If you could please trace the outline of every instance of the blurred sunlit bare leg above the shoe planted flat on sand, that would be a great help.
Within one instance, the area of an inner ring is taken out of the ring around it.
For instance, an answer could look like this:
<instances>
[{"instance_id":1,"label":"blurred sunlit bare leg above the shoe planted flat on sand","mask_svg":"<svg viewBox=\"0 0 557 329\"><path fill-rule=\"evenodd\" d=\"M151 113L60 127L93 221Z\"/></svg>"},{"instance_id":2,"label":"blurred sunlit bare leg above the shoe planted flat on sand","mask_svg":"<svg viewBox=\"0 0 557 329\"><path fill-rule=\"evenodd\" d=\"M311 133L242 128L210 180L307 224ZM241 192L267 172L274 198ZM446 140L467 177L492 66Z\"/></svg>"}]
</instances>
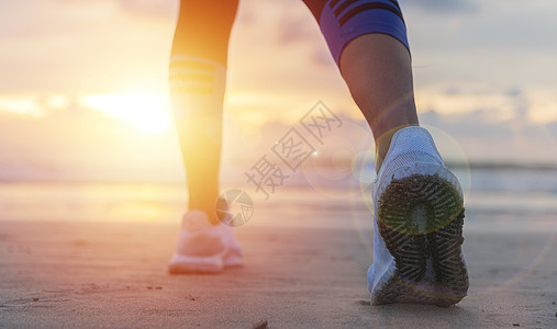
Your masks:
<instances>
[{"instance_id":1,"label":"blurred sunlit bare leg above the shoe planted flat on sand","mask_svg":"<svg viewBox=\"0 0 557 329\"><path fill-rule=\"evenodd\" d=\"M170 93L189 208L219 219L219 169L229 36L237 0L181 0L170 57Z\"/></svg>"}]
</instances>

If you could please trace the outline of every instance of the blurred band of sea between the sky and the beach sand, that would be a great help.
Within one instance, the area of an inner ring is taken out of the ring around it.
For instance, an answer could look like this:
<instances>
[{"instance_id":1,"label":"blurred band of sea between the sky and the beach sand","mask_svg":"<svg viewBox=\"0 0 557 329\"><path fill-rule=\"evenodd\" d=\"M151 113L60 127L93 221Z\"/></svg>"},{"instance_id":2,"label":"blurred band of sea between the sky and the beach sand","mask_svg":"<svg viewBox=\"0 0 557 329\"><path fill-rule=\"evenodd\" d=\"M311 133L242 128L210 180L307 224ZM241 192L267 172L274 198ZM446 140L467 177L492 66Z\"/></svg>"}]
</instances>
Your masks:
<instances>
[{"instance_id":1,"label":"blurred band of sea between the sky and the beach sand","mask_svg":"<svg viewBox=\"0 0 557 329\"><path fill-rule=\"evenodd\" d=\"M455 167L454 172L465 193L468 229L556 228L556 168L490 164ZM331 168L300 171L272 189L249 184L242 172L236 178L224 179L223 191L250 196L254 213L247 225L349 227L354 224L343 218L350 217L358 227L371 226L372 177L355 178ZM179 223L187 200L183 181L11 180L0 182L0 220ZM281 218L275 218L277 211Z\"/></svg>"}]
</instances>

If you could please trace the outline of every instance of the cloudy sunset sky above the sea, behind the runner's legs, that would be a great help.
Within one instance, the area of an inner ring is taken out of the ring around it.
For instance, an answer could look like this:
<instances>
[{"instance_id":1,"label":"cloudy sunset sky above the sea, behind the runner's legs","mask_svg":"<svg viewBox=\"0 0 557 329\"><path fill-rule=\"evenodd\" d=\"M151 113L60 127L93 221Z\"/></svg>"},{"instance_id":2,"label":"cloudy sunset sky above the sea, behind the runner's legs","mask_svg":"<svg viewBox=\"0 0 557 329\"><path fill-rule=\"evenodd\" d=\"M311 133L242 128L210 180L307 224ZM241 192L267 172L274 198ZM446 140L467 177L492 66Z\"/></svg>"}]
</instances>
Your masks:
<instances>
[{"instance_id":1,"label":"cloudy sunset sky above the sea, behind the runner's legs","mask_svg":"<svg viewBox=\"0 0 557 329\"><path fill-rule=\"evenodd\" d=\"M241 2L224 163L249 166L318 101L358 126L338 133L345 145L372 148L303 3ZM556 163L557 2L400 3L419 113L442 152ZM167 83L177 10L176 0L0 1L0 179L183 179Z\"/></svg>"}]
</instances>

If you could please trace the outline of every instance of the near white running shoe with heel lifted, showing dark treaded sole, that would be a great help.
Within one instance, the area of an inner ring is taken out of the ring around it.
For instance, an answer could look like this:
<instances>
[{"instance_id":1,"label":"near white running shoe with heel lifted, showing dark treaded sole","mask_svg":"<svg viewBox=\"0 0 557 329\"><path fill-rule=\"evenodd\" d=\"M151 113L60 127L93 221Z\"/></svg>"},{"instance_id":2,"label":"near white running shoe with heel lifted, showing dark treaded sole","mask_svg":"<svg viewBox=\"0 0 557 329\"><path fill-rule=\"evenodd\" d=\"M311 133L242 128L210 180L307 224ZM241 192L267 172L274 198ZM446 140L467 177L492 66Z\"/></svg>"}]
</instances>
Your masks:
<instances>
[{"instance_id":1,"label":"near white running shoe with heel lifted, showing dark treaded sole","mask_svg":"<svg viewBox=\"0 0 557 329\"><path fill-rule=\"evenodd\" d=\"M463 191L426 129L412 126L394 134L372 197L371 303L460 302L468 291Z\"/></svg>"}]
</instances>

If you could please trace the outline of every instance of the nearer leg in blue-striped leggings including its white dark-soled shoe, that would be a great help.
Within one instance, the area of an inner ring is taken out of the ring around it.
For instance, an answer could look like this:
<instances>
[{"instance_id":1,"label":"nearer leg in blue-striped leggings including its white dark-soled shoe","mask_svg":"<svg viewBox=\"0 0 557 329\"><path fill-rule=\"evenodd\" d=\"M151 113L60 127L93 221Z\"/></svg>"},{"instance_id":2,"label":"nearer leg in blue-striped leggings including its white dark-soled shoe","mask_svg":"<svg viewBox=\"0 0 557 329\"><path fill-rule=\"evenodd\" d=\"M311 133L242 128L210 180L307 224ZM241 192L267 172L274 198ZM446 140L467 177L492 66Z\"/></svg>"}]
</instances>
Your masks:
<instances>
[{"instance_id":1,"label":"nearer leg in blue-striped leggings including its white dark-soled shoe","mask_svg":"<svg viewBox=\"0 0 557 329\"><path fill-rule=\"evenodd\" d=\"M448 306L468 291L464 198L417 125L406 29L396 0L305 0L377 146L374 305ZM402 129L403 128L403 129ZM380 169L380 170L379 170Z\"/></svg>"}]
</instances>

